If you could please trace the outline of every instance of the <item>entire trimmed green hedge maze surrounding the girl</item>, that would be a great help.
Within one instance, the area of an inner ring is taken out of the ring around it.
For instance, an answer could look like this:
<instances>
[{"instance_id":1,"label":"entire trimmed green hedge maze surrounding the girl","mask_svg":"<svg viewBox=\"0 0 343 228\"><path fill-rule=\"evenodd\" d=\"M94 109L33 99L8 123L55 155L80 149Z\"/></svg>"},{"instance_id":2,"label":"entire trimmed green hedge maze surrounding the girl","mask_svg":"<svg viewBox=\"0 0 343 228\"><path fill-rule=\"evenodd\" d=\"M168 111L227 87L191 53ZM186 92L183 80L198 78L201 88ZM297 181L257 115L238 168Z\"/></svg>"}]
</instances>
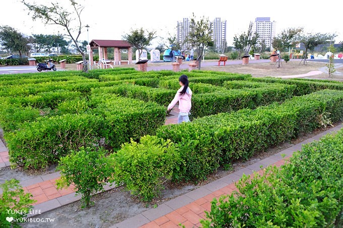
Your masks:
<instances>
[{"instance_id":1,"label":"entire trimmed green hedge maze surrounding the girl","mask_svg":"<svg viewBox=\"0 0 343 228\"><path fill-rule=\"evenodd\" d=\"M192 122L164 125L182 73L194 94ZM342 119L343 84L331 81L133 68L0 76L0 126L13 168L44 169L80 147L104 147L116 171L109 180L144 200L156 196L157 180L165 175L196 182ZM161 172L144 173L149 164ZM133 171L135 166L140 168ZM135 175L124 178L130 172Z\"/></svg>"}]
</instances>

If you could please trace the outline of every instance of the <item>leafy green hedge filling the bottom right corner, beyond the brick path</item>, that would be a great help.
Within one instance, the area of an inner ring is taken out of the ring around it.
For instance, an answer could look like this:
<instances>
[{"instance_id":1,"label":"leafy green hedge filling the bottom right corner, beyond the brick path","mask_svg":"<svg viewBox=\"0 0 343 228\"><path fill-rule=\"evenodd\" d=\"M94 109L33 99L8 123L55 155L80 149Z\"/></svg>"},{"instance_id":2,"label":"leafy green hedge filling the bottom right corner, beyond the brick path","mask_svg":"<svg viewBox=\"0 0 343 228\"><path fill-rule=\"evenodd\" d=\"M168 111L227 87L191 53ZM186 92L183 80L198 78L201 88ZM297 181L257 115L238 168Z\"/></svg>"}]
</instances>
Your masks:
<instances>
[{"instance_id":1,"label":"leafy green hedge filling the bottom right corner, beyond the brick path","mask_svg":"<svg viewBox=\"0 0 343 228\"><path fill-rule=\"evenodd\" d=\"M341 227L343 130L303 146L281 169L243 176L214 199L203 227Z\"/></svg>"}]
</instances>

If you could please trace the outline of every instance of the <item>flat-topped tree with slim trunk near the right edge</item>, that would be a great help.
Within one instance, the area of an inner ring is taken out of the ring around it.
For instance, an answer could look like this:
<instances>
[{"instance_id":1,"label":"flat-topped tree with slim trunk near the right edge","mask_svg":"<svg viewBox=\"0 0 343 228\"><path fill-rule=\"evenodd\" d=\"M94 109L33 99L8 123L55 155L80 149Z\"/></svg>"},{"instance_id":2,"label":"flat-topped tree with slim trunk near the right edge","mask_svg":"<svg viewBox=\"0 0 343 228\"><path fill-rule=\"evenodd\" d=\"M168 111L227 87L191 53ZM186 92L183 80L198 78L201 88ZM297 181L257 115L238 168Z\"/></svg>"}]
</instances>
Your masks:
<instances>
[{"instance_id":1,"label":"flat-topped tree with slim trunk near the right edge","mask_svg":"<svg viewBox=\"0 0 343 228\"><path fill-rule=\"evenodd\" d=\"M299 42L305 46L305 55L307 56L307 50L314 50L319 44L326 43L330 39L330 35L327 33L306 33L299 36ZM304 65L307 64L306 57L304 58Z\"/></svg>"}]
</instances>

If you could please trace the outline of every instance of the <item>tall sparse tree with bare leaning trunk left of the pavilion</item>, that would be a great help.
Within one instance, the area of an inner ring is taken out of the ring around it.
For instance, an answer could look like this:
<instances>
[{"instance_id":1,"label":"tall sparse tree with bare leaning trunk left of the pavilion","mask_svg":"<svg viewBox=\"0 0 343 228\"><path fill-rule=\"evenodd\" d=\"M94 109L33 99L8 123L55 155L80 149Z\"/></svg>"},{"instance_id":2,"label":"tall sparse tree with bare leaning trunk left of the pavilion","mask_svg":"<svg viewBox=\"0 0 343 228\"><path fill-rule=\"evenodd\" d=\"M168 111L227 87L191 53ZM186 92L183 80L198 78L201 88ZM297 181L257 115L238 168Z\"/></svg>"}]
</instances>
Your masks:
<instances>
[{"instance_id":1,"label":"tall sparse tree with bare leaning trunk left of the pavilion","mask_svg":"<svg viewBox=\"0 0 343 228\"><path fill-rule=\"evenodd\" d=\"M84 9L81 5L79 5L76 1L70 0L72 12L65 10L61 7L60 3L50 3L48 6L43 6L41 4L29 4L25 0L21 0L21 2L28 8L28 10L32 13L32 20L40 19L42 21L46 21L50 24L60 25L66 31L68 36L73 40L74 44L78 48L78 51L82 55L83 60L83 72L88 72L87 61L85 57L85 52L82 51L78 46L78 39L81 35L81 29L83 28L81 22L81 13ZM77 25L73 27L74 20L77 21ZM76 35L74 33L76 30Z\"/></svg>"}]
</instances>

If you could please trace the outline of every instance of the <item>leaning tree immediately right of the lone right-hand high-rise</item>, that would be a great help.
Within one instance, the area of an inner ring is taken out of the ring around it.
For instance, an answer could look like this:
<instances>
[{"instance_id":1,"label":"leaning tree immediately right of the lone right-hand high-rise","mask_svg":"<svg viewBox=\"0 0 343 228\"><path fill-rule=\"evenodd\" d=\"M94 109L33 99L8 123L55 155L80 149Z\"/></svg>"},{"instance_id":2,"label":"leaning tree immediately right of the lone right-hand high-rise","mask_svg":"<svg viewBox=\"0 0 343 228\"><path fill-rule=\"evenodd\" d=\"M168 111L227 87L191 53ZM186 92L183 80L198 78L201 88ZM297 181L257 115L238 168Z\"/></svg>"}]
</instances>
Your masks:
<instances>
[{"instance_id":1,"label":"leaning tree immediately right of the lone right-hand high-rise","mask_svg":"<svg viewBox=\"0 0 343 228\"><path fill-rule=\"evenodd\" d=\"M280 51L295 47L298 43L298 36L303 32L303 28L284 29L273 39L272 46Z\"/></svg>"}]
</instances>

